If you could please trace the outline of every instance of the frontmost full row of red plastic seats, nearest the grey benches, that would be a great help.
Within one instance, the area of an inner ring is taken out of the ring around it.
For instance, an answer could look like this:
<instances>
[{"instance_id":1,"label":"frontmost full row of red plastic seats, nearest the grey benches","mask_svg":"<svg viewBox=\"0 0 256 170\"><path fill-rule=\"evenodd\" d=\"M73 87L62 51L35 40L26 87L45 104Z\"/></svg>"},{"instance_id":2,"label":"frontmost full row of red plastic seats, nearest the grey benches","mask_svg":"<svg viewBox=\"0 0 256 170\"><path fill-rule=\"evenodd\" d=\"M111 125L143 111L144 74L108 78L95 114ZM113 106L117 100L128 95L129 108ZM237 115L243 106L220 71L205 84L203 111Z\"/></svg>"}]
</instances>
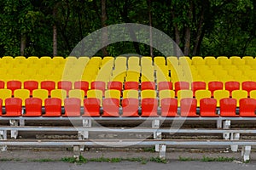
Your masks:
<instances>
[{"instance_id":1,"label":"frontmost full row of red plastic seats, nearest the grey benches","mask_svg":"<svg viewBox=\"0 0 256 170\"><path fill-rule=\"evenodd\" d=\"M26 99L25 112L22 112L22 101L19 98L5 99L5 111L2 111L0 99L0 116L101 116L99 99L84 99L84 111L81 110L81 99L68 98L64 100L65 113L61 113L61 99L51 98L44 100L44 114L42 114L42 99ZM204 98L200 100L200 113L196 111L196 99L181 99L180 111L177 112L177 99L161 99L160 115L158 115L157 99L143 99L141 116L256 116L256 99L240 99L239 114L236 112L236 99L221 99L219 115L217 114L217 100ZM128 98L122 100L121 116L139 116L138 99ZM120 116L118 99L103 99L102 116Z\"/></svg>"}]
</instances>

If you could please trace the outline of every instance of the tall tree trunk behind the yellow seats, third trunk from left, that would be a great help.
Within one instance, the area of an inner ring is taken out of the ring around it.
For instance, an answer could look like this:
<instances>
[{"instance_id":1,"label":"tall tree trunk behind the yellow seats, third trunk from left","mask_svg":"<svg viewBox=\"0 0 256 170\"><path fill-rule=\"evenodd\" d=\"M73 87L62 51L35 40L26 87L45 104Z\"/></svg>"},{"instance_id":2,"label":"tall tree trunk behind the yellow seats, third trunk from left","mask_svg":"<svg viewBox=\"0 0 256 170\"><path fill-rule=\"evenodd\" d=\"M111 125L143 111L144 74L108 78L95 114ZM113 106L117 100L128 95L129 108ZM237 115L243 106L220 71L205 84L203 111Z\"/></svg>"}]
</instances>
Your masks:
<instances>
[{"instance_id":1,"label":"tall tree trunk behind the yellow seats, third trunk from left","mask_svg":"<svg viewBox=\"0 0 256 170\"><path fill-rule=\"evenodd\" d=\"M107 6L107 0L102 0L102 27L106 27L106 21L107 21L107 11L106 11L106 6ZM103 29L102 31L102 45L104 46L102 48L102 54L104 56L108 55L107 51L107 46L105 46L108 43L108 30L107 28Z\"/></svg>"}]
</instances>

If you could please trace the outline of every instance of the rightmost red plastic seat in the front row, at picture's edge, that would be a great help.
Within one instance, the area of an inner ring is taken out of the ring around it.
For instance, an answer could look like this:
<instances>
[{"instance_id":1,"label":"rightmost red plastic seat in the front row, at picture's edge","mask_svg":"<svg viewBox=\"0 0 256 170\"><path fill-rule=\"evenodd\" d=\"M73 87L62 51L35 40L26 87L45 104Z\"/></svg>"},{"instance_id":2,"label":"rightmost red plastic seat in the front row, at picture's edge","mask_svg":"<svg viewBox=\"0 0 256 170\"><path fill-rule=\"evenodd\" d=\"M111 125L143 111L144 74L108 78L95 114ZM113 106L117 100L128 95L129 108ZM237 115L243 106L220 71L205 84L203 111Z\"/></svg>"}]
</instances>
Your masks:
<instances>
[{"instance_id":1,"label":"rightmost red plastic seat in the front row, at picture's edge","mask_svg":"<svg viewBox=\"0 0 256 170\"><path fill-rule=\"evenodd\" d=\"M256 99L244 98L239 100L239 116L256 116Z\"/></svg>"}]
</instances>

